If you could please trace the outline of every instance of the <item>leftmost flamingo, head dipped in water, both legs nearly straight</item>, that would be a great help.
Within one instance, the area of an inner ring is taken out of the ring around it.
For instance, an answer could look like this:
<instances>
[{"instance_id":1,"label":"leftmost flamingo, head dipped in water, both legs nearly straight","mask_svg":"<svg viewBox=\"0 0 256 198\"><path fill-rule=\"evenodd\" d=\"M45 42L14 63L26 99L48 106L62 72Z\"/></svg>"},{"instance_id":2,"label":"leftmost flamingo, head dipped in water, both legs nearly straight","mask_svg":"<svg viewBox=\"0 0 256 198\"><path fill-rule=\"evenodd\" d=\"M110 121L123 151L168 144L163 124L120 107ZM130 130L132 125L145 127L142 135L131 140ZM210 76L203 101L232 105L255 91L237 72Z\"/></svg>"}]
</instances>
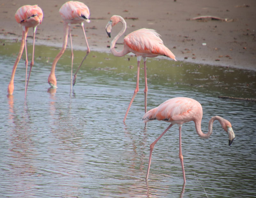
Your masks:
<instances>
[{"instance_id":1,"label":"leftmost flamingo, head dipped in water, both legs nearly straight","mask_svg":"<svg viewBox=\"0 0 256 198\"><path fill-rule=\"evenodd\" d=\"M12 95L13 90L14 90L14 75L15 71L17 68L17 65L20 61L21 55L24 50L25 46L25 52L26 52L26 60L25 60L25 65L26 65L26 81L25 81L25 98L27 95L27 89L28 89L28 83L27 83L27 70L28 70L28 55L27 55L27 44L26 44L26 39L28 35L28 28L33 28L33 52L32 52L32 60L30 63L30 70L29 70L29 75L28 75L28 82L29 82L29 77L30 77L30 72L31 69L34 65L34 49L35 49L35 35L36 35L36 27L37 25L43 20L43 11L38 5L23 5L21 6L17 12L14 15L16 21L20 23L22 27L22 38L21 38L21 44L20 44L20 51L18 54L18 57L13 65L12 68L12 75L11 75L11 80L8 85L8 95Z\"/></svg>"}]
</instances>

